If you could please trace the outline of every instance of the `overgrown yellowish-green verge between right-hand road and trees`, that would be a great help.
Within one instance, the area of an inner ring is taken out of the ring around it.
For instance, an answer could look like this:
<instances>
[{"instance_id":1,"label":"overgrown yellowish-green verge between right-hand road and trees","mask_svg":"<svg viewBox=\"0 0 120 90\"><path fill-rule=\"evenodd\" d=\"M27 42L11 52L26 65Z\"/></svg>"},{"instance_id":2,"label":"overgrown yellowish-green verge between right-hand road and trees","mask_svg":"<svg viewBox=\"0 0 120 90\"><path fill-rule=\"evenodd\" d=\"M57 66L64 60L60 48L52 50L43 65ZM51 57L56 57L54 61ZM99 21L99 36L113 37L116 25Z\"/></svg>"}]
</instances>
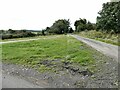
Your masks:
<instances>
[{"instance_id":1,"label":"overgrown yellowish-green verge between right-hand road and trees","mask_svg":"<svg viewBox=\"0 0 120 90\"><path fill-rule=\"evenodd\" d=\"M120 46L120 42L118 41L117 34L110 34L110 33L91 30L91 31L80 32L79 35L83 37L99 40L105 43Z\"/></svg>"}]
</instances>

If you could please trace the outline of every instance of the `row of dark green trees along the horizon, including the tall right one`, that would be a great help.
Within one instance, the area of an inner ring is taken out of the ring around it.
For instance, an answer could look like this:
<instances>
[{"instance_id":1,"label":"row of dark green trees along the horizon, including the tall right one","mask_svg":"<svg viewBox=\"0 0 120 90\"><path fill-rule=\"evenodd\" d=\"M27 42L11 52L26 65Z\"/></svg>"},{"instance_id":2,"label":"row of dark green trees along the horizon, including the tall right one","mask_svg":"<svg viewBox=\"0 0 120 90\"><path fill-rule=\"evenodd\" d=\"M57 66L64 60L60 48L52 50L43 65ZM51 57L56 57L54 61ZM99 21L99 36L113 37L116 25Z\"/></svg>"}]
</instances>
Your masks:
<instances>
[{"instance_id":1,"label":"row of dark green trees along the horizon, including the tall right one","mask_svg":"<svg viewBox=\"0 0 120 90\"><path fill-rule=\"evenodd\" d=\"M97 30L104 32L120 33L120 2L107 2L103 4L102 10L98 12L96 23L91 23L85 18L74 22L75 30L70 27L70 20L59 19L51 27L44 31L54 34L81 32L85 30Z\"/></svg>"}]
</instances>

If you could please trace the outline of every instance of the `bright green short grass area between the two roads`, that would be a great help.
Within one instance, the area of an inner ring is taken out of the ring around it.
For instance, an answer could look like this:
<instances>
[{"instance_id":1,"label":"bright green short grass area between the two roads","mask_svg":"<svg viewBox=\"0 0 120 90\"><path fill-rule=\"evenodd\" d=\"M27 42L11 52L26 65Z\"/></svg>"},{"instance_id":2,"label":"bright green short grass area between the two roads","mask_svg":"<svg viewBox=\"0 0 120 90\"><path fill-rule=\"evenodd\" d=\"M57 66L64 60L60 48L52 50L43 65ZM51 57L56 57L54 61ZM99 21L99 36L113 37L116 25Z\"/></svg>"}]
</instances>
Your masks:
<instances>
[{"instance_id":1,"label":"bright green short grass area between the two roads","mask_svg":"<svg viewBox=\"0 0 120 90\"><path fill-rule=\"evenodd\" d=\"M69 35L2 45L3 62L49 70L39 65L44 60L69 61L83 66L94 63L91 49Z\"/></svg>"}]
</instances>

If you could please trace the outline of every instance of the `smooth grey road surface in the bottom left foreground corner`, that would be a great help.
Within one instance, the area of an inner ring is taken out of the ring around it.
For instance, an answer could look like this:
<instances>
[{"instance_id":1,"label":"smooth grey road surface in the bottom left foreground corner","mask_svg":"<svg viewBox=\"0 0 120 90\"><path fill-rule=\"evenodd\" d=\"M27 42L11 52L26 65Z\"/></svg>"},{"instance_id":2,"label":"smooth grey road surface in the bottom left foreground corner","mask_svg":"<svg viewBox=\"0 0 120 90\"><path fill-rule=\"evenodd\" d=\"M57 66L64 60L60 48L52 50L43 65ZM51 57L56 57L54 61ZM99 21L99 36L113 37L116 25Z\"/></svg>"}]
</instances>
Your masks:
<instances>
[{"instance_id":1,"label":"smooth grey road surface in the bottom left foreground corner","mask_svg":"<svg viewBox=\"0 0 120 90\"><path fill-rule=\"evenodd\" d=\"M2 73L2 88L42 88L22 79L18 76L12 76Z\"/></svg>"}]
</instances>

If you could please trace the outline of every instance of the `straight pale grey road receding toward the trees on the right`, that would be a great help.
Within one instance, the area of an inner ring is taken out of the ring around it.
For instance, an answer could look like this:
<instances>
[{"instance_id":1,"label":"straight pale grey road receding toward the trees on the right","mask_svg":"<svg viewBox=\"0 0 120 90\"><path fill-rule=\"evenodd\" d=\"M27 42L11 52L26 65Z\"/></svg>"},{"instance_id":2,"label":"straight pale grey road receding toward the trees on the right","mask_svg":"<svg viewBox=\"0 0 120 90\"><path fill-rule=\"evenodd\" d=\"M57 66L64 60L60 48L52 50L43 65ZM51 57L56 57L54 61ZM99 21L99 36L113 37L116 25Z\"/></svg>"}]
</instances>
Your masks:
<instances>
[{"instance_id":1,"label":"straight pale grey road receding toward the trees on the right","mask_svg":"<svg viewBox=\"0 0 120 90\"><path fill-rule=\"evenodd\" d=\"M70 35L87 45L93 47L94 49L100 51L101 53L113 58L114 60L118 61L118 52L120 51L118 46L107 44L101 41L89 39L89 38L84 38L78 35Z\"/></svg>"}]
</instances>

